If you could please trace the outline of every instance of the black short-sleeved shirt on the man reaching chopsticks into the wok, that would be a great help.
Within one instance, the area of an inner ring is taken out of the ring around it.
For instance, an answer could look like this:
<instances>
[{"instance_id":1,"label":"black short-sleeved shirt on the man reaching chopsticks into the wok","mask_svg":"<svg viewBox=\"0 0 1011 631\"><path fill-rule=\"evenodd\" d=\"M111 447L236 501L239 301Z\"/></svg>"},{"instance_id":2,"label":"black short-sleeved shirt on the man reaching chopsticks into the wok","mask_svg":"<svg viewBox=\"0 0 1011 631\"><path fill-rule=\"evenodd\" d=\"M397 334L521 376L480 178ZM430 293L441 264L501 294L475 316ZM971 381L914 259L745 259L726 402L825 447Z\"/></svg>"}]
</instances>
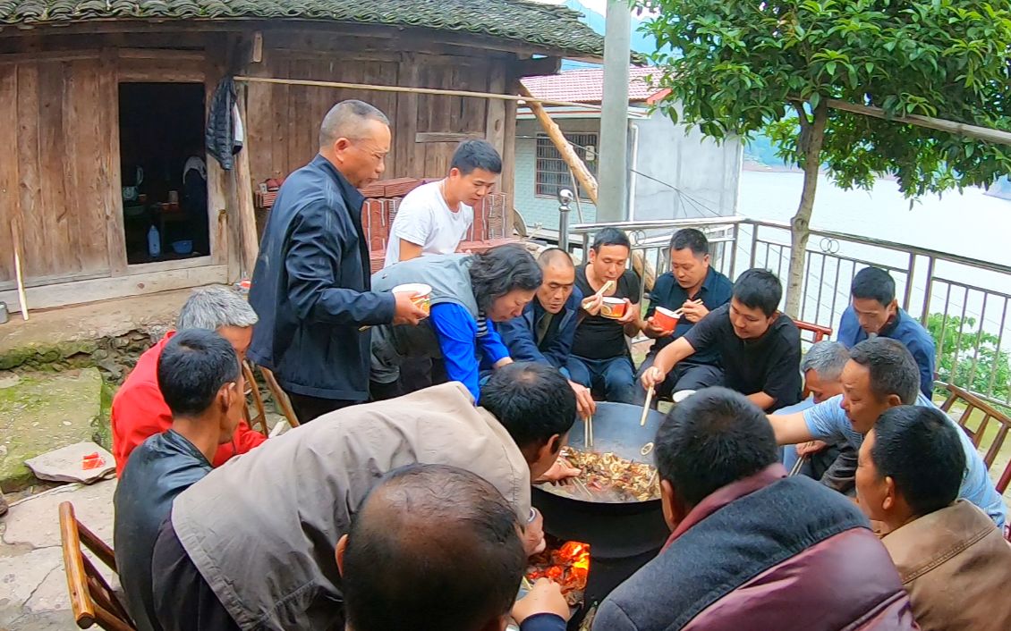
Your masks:
<instances>
[{"instance_id":1,"label":"black short-sleeved shirt on the man reaching chopsticks into the wok","mask_svg":"<svg viewBox=\"0 0 1011 631\"><path fill-rule=\"evenodd\" d=\"M719 354L727 388L743 395L765 393L773 399L770 410L801 400L801 333L787 315L779 314L761 337L741 339L727 304L700 320L684 339L696 352Z\"/></svg>"}]
</instances>

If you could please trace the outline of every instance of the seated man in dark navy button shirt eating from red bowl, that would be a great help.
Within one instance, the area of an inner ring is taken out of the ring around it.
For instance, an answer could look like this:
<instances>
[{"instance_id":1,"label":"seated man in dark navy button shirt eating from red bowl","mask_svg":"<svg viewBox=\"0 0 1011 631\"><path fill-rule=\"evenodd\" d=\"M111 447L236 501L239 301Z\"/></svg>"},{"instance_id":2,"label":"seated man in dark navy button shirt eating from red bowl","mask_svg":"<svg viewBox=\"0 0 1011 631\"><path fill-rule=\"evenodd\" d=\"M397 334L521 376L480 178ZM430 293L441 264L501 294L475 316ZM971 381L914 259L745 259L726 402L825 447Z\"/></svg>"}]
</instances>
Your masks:
<instances>
[{"instance_id":1,"label":"seated man in dark navy button shirt eating from red bowl","mask_svg":"<svg viewBox=\"0 0 1011 631\"><path fill-rule=\"evenodd\" d=\"M646 327L643 333L652 337L649 354L639 366L636 379L645 373L667 344L679 339L692 330L696 322L710 311L730 302L734 284L710 266L709 240L701 230L682 228L670 237L670 272L660 275L649 295L649 309L646 310ZM656 323L656 308L681 311L676 326L670 329ZM667 375L662 384L656 386L656 394L669 397L678 390L701 390L723 384L720 367L720 353L717 348L707 348L679 361ZM641 391L643 397L646 392Z\"/></svg>"}]
</instances>

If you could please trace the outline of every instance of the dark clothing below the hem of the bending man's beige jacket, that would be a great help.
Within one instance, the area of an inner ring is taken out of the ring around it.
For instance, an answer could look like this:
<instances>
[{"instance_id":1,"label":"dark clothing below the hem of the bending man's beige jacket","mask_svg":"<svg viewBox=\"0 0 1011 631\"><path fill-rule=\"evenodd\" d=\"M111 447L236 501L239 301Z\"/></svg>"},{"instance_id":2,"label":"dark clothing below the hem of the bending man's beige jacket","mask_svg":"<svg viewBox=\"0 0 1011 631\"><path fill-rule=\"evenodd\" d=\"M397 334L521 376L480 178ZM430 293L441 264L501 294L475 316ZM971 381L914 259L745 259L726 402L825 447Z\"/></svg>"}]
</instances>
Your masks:
<instances>
[{"instance_id":1,"label":"dark clothing below the hem of the bending man's beige jacket","mask_svg":"<svg viewBox=\"0 0 1011 631\"><path fill-rule=\"evenodd\" d=\"M164 631L239 631L179 541L171 513L158 531L151 574L155 614Z\"/></svg>"}]
</instances>

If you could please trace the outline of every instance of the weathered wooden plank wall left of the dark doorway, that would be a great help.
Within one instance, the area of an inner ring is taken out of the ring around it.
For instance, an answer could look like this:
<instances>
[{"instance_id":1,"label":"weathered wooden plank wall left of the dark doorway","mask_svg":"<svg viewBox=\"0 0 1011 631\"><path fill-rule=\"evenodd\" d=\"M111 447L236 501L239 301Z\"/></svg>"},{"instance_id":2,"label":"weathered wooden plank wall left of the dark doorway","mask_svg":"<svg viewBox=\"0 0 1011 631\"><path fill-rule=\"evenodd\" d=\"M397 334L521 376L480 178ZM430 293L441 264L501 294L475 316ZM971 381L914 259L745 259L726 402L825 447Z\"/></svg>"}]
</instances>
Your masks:
<instances>
[{"instance_id":1,"label":"weathered wooden plank wall left of the dark doorway","mask_svg":"<svg viewBox=\"0 0 1011 631\"><path fill-rule=\"evenodd\" d=\"M14 279L12 222L29 284L110 270L110 182L99 147L114 137L114 83L96 52L70 61L0 61L0 288ZM110 89L113 91L109 93Z\"/></svg>"}]
</instances>

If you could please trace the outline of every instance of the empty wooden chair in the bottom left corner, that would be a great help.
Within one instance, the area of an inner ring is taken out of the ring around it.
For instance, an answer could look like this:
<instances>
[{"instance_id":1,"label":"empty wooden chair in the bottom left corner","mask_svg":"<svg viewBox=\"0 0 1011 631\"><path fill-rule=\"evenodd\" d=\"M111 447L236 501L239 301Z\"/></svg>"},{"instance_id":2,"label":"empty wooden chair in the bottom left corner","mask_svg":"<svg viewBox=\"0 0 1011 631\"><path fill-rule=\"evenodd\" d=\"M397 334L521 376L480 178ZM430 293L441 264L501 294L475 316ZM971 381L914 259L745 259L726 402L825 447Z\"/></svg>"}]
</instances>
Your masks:
<instances>
[{"instance_id":1,"label":"empty wooden chair in the bottom left corner","mask_svg":"<svg viewBox=\"0 0 1011 631\"><path fill-rule=\"evenodd\" d=\"M136 631L119 597L91 559L84 555L81 544L116 571L112 548L77 520L70 502L60 505L60 537L70 605L77 626L87 629L97 624L106 631Z\"/></svg>"}]
</instances>

